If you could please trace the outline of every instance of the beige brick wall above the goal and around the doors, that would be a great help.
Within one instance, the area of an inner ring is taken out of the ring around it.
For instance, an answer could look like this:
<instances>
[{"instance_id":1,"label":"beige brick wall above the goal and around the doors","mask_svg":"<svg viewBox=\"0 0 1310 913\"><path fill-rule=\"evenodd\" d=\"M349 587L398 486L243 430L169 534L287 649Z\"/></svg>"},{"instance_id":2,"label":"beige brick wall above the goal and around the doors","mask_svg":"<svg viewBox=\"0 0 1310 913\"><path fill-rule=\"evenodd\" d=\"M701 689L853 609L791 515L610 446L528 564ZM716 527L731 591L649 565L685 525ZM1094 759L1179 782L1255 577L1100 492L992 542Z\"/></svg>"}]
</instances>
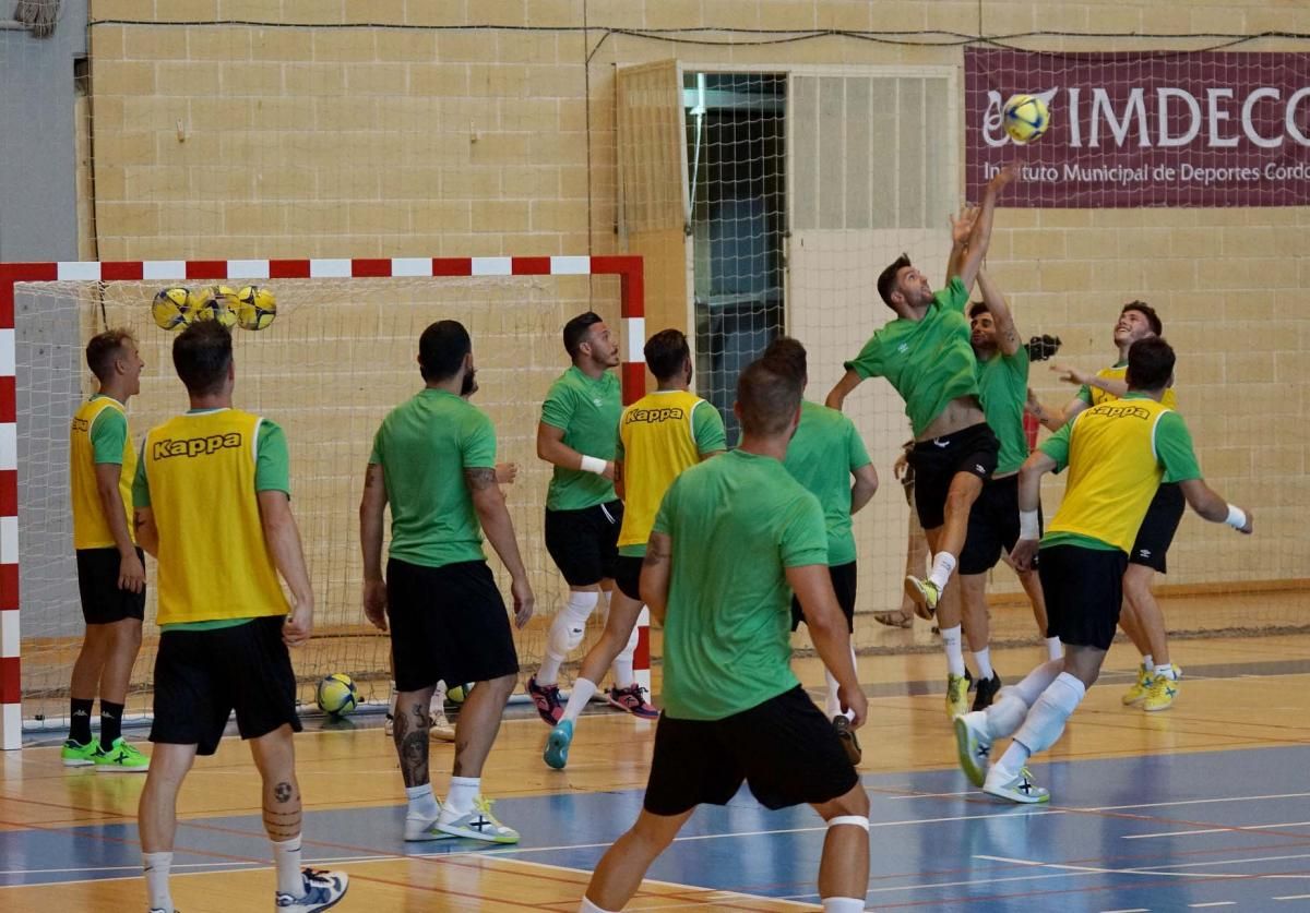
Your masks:
<instances>
[{"instance_id":1,"label":"beige brick wall above the goal and around the doors","mask_svg":"<svg viewBox=\"0 0 1310 913\"><path fill-rule=\"evenodd\" d=\"M159 25L113 22L140 18L143 7ZM820 64L960 68L962 50L832 35L766 46L749 43L758 35L739 35L739 43L707 47L607 29L1310 31L1310 8L1272 9L1255 0L169 0L151 7L92 4L101 22L90 35L94 216L103 259L607 254L650 245L648 285L673 302L655 310L660 323L679 320L685 273L677 237L617 230L617 67L677 59L692 69L772 72ZM270 25L168 25L234 18ZM362 21L443 27L313 27ZM444 27L470 21L533 29ZM575 30L583 24L588 31ZM730 42L731 34L697 38ZM1163 44L1024 42L1052 50ZM1272 41L1248 47L1303 50ZM1307 222L1306 209L1002 211L997 220L992 269L1026 335L1065 340L1061 360L1085 369L1110 361L1110 326L1127 300L1145 297L1165 318L1180 353L1182 408L1203 467L1222 493L1255 508L1262 531L1259 544L1238 543L1188 518L1170 556L1171 582L1303 577L1310 566L1301 521L1310 506ZM853 262L861 255L850 254ZM865 320L833 327L834 341L824 344L832 351L825 348L821 361L840 361L883 318L871 305ZM832 379L815 377L814 385ZM1034 369L1034 386L1053 403L1072 392L1044 366ZM899 436L875 437L870 446L889 489Z\"/></svg>"}]
</instances>

